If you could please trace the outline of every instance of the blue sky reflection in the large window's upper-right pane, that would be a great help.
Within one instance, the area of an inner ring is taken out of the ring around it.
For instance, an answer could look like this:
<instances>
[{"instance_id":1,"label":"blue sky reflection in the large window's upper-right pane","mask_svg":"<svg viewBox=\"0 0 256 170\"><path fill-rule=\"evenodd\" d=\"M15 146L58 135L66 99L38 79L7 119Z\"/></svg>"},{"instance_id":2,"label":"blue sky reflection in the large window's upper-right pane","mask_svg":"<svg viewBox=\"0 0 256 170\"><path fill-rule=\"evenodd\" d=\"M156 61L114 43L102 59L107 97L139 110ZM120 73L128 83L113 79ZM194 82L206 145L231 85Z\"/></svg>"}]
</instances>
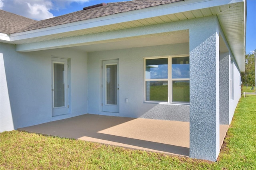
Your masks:
<instances>
[{"instance_id":1,"label":"blue sky reflection in the large window's upper-right pane","mask_svg":"<svg viewBox=\"0 0 256 170\"><path fill-rule=\"evenodd\" d=\"M172 64L172 78L189 78L189 64Z\"/></svg>"}]
</instances>

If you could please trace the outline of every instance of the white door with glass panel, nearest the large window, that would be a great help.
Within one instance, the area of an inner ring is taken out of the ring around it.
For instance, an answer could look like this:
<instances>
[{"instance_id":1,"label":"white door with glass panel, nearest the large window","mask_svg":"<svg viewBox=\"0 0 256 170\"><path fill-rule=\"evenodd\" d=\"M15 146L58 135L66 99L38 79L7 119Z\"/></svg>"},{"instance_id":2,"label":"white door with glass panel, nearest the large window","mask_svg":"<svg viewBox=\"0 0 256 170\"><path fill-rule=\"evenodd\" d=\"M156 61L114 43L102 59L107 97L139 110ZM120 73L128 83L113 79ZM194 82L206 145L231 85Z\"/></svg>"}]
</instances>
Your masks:
<instances>
[{"instance_id":1,"label":"white door with glass panel, nearest the large window","mask_svg":"<svg viewBox=\"0 0 256 170\"><path fill-rule=\"evenodd\" d=\"M119 61L103 61L102 111L119 113Z\"/></svg>"}]
</instances>

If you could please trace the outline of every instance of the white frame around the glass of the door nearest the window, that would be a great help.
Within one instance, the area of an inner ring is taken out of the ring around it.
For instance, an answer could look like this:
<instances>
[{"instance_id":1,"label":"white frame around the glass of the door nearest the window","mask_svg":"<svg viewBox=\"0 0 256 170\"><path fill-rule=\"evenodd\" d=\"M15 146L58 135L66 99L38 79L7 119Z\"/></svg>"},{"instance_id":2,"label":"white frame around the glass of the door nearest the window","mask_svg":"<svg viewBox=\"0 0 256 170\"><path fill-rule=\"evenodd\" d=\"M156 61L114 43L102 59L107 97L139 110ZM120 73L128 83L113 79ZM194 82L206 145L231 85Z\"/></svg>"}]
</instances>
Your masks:
<instances>
[{"instance_id":1,"label":"white frame around the glass of the door nearest the window","mask_svg":"<svg viewBox=\"0 0 256 170\"><path fill-rule=\"evenodd\" d=\"M116 105L106 103L106 66L107 65L117 65L116 70ZM103 112L113 112L119 113L119 59L103 60L102 61L102 111Z\"/></svg>"}]
</instances>

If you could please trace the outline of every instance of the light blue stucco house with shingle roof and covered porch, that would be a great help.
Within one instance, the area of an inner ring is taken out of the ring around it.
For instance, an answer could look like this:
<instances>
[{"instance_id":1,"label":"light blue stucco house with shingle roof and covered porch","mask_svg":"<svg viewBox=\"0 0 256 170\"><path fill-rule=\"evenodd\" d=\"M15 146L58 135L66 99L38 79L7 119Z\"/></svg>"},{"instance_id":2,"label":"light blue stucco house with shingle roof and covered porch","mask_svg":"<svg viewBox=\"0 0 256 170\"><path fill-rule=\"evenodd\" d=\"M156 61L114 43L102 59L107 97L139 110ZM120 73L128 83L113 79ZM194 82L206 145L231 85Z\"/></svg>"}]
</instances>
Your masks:
<instances>
[{"instance_id":1,"label":"light blue stucco house with shingle roof and covered porch","mask_svg":"<svg viewBox=\"0 0 256 170\"><path fill-rule=\"evenodd\" d=\"M86 113L190 122L215 161L244 71L246 0L134 0L34 21L1 10L0 131Z\"/></svg>"}]
</instances>

